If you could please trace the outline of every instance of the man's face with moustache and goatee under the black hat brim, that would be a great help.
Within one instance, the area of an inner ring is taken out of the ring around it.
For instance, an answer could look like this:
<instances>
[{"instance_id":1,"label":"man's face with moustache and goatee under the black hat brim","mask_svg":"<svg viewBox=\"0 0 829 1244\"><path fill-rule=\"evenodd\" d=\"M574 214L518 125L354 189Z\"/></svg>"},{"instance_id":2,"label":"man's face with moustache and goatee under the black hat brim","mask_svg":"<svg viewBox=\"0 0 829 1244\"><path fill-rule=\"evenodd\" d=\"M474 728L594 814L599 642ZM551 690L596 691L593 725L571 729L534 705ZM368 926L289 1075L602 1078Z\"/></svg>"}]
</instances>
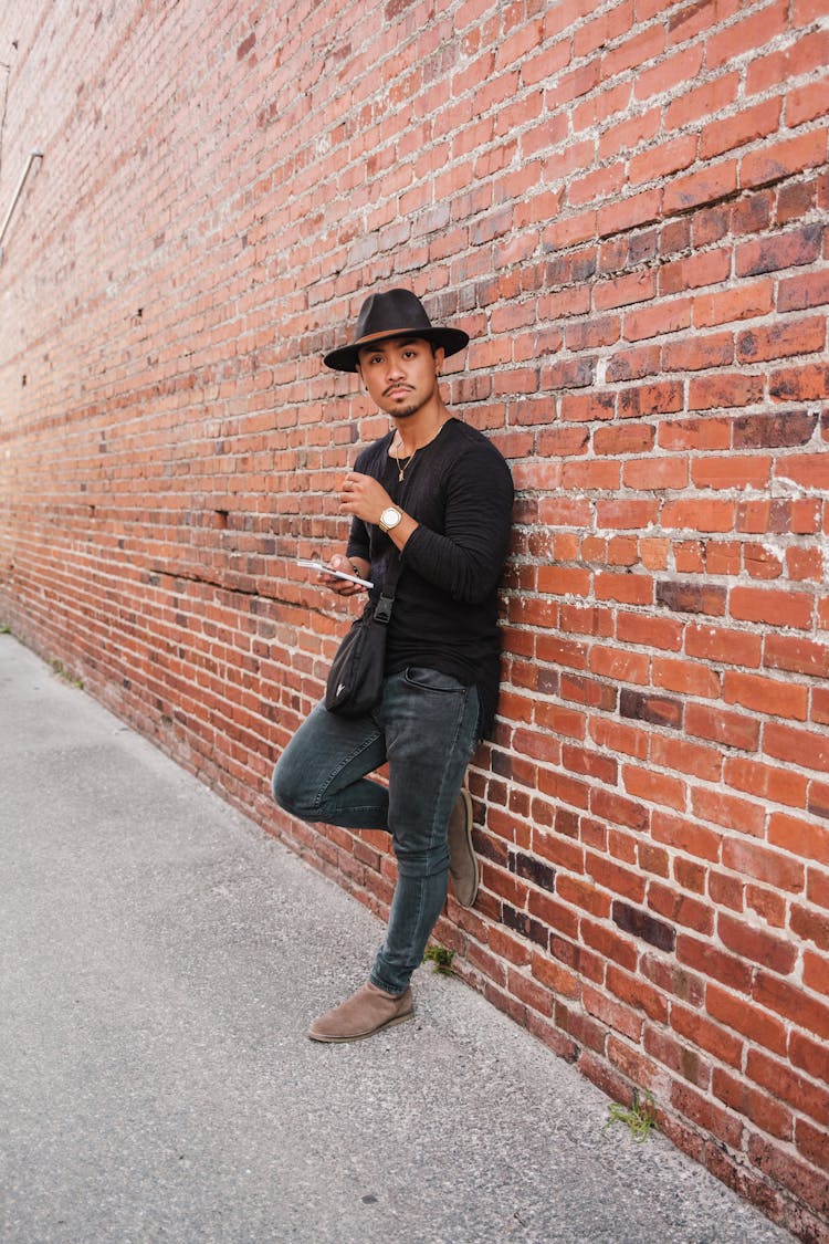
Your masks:
<instances>
[{"instance_id":1,"label":"man's face with moustache and goatee under the black hat brim","mask_svg":"<svg viewBox=\"0 0 829 1244\"><path fill-rule=\"evenodd\" d=\"M423 337L392 337L359 352L358 371L380 411L405 419L435 396L444 350L435 353Z\"/></svg>"}]
</instances>

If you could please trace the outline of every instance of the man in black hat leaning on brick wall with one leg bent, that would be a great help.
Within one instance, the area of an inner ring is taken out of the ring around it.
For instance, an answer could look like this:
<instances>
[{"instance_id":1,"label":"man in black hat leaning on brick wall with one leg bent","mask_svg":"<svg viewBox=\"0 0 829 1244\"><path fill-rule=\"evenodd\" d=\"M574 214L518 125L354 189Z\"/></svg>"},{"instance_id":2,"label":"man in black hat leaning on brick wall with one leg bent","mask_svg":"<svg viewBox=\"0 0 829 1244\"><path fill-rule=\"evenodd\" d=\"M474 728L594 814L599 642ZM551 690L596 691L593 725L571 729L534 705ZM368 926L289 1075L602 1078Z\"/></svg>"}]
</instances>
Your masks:
<instances>
[{"instance_id":1,"label":"man in black hat leaning on brick wall with one leg bent","mask_svg":"<svg viewBox=\"0 0 829 1244\"><path fill-rule=\"evenodd\" d=\"M341 491L352 516L331 570L374 583L400 576L388 627L382 700L365 717L317 705L273 773L277 804L307 821L387 830L398 861L389 926L368 982L314 1020L314 1041L353 1041L413 1015L409 980L446 898L479 883L472 850L470 755L497 700L497 587L507 556L512 479L498 450L455 419L439 389L444 360L469 336L434 327L409 290L362 306L352 345L326 366L357 372L392 430L364 449ZM341 596L362 591L327 575ZM388 790L367 775L388 761Z\"/></svg>"}]
</instances>

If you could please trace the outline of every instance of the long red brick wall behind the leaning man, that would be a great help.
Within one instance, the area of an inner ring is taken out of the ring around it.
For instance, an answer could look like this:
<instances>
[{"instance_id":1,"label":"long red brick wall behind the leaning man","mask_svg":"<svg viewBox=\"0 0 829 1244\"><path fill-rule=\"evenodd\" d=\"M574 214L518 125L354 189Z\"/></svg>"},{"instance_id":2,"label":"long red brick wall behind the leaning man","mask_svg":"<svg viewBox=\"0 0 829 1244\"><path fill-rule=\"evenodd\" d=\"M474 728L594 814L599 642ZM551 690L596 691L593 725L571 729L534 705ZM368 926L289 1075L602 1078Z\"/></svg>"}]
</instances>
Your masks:
<instances>
[{"instance_id":1,"label":"long red brick wall behind the leaning man","mask_svg":"<svg viewBox=\"0 0 829 1244\"><path fill-rule=\"evenodd\" d=\"M348 613L293 560L384 430L319 356L378 284L465 325L446 396L520 493L483 892L440 935L820 1238L825 6L6 11L0 210L45 158L0 267L0 621L384 911L379 836L267 791Z\"/></svg>"}]
</instances>

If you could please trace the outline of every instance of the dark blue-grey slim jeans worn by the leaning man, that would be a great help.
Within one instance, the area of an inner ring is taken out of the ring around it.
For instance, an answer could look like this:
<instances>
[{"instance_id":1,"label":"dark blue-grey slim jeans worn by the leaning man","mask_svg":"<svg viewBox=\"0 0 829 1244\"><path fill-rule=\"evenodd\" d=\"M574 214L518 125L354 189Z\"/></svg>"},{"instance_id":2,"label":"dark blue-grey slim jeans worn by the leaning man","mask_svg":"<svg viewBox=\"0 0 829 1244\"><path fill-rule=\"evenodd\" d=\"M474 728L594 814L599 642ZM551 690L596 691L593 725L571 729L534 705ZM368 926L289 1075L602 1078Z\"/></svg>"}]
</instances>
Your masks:
<instances>
[{"instance_id":1,"label":"dark blue-grey slim jeans worn by the leaning man","mask_svg":"<svg viewBox=\"0 0 829 1244\"><path fill-rule=\"evenodd\" d=\"M474 687L410 667L383 684L370 714L344 718L322 704L273 770L273 797L303 821L387 830L398 861L385 942L370 979L401 994L423 962L446 898L446 826L477 736ZM367 774L388 760L388 790Z\"/></svg>"}]
</instances>

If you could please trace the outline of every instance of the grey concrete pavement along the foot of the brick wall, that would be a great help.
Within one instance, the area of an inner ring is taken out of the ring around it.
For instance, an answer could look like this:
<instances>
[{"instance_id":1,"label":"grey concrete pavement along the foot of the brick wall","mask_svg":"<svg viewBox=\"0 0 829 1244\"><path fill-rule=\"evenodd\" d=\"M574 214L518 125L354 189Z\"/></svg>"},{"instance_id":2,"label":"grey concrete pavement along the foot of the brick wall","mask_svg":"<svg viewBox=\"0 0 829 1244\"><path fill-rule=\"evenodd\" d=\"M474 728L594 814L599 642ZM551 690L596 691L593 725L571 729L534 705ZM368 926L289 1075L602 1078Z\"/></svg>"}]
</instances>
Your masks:
<instances>
[{"instance_id":1,"label":"grey concrete pavement along the foot of the brick wall","mask_svg":"<svg viewBox=\"0 0 829 1244\"><path fill-rule=\"evenodd\" d=\"M382 926L0 637L0 1239L790 1240L460 982L321 1046Z\"/></svg>"}]
</instances>

